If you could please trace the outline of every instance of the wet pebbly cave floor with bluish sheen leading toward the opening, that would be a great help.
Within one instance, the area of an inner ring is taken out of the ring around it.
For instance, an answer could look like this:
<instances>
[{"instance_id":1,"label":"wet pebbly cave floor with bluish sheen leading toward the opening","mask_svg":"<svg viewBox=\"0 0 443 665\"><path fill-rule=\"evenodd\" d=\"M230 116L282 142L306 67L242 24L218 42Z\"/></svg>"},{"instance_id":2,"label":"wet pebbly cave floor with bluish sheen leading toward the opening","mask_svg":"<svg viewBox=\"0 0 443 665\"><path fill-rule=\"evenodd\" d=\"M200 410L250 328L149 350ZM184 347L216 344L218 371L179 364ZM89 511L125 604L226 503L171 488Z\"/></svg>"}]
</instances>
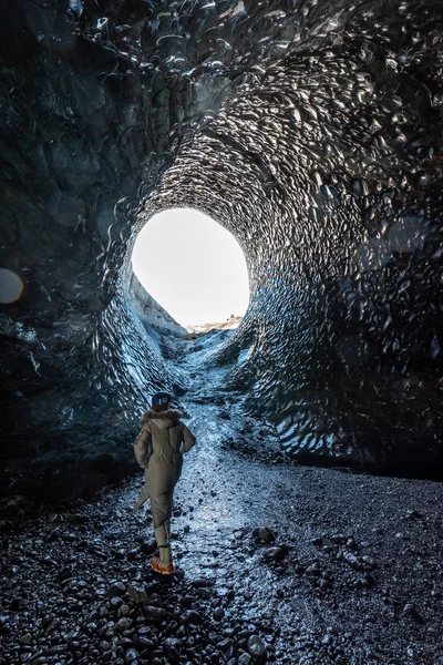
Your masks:
<instances>
[{"instance_id":1,"label":"wet pebbly cave floor with bluish sheen leading toward the opening","mask_svg":"<svg viewBox=\"0 0 443 665\"><path fill-rule=\"evenodd\" d=\"M443 485L288 463L205 369L220 335L168 349L197 436L177 574L150 569L142 479L63 510L4 502L1 663L443 665Z\"/></svg>"}]
</instances>

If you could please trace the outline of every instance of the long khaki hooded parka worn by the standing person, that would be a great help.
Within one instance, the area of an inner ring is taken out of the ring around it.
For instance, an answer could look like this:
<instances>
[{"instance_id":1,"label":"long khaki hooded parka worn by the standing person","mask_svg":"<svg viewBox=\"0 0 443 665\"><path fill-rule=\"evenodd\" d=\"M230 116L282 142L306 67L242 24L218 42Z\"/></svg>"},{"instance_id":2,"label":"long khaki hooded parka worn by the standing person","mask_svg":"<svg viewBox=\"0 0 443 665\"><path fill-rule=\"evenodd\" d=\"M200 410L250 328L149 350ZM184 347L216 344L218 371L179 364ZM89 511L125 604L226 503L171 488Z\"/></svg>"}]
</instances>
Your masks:
<instances>
[{"instance_id":1,"label":"long khaki hooded parka worn by the standing person","mask_svg":"<svg viewBox=\"0 0 443 665\"><path fill-rule=\"evenodd\" d=\"M134 505L137 510L151 499L154 529L171 519L174 488L181 477L183 453L195 443L194 434L175 410L147 411L134 444L138 464L145 470L145 484Z\"/></svg>"}]
</instances>

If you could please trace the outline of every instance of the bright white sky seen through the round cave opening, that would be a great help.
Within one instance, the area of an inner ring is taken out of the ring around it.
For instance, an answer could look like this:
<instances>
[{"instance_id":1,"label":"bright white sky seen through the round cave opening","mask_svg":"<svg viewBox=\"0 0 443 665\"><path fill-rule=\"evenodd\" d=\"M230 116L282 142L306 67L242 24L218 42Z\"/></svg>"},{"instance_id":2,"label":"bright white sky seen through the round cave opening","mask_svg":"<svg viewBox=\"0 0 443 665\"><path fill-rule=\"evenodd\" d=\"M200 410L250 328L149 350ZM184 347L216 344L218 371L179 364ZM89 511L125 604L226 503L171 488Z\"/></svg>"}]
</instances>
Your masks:
<instances>
[{"instance_id":1,"label":"bright white sky seen through the round cave opening","mask_svg":"<svg viewBox=\"0 0 443 665\"><path fill-rule=\"evenodd\" d=\"M152 217L135 242L132 265L147 293L182 326L225 321L247 309L240 246L197 211L176 208Z\"/></svg>"}]
</instances>

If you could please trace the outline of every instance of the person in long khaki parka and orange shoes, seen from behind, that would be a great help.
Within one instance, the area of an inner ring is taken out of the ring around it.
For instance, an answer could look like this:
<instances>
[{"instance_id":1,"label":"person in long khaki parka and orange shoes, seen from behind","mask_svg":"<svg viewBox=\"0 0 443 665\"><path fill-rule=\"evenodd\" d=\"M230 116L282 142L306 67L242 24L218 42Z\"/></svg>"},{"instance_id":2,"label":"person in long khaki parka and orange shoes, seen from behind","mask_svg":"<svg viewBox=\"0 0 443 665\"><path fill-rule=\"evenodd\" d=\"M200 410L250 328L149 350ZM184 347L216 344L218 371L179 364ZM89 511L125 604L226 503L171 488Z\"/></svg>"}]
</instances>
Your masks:
<instances>
[{"instance_id":1,"label":"person in long khaki parka and orange shoes, seen from behind","mask_svg":"<svg viewBox=\"0 0 443 665\"><path fill-rule=\"evenodd\" d=\"M164 575L174 573L169 545L174 488L182 473L183 453L195 443L194 434L179 420L179 411L169 409L169 401L167 392L153 396L152 409L143 416L142 429L134 444L137 462L145 470L145 484L134 510L138 510L147 498L151 499L159 552L158 557L152 559L151 566Z\"/></svg>"}]
</instances>

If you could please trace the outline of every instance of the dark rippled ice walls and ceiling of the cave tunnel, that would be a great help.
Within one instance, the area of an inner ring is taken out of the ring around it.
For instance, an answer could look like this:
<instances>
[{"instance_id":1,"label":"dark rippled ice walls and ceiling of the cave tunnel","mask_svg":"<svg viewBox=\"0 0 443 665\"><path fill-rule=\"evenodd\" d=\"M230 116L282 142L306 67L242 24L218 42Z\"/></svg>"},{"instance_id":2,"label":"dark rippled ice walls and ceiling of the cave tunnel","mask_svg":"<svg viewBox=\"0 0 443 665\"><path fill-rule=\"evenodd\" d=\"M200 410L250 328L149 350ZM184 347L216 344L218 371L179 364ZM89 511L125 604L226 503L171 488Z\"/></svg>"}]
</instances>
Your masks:
<instances>
[{"instance_id":1,"label":"dark rippled ice walls and ceiling of the cave tunnel","mask_svg":"<svg viewBox=\"0 0 443 665\"><path fill-rule=\"evenodd\" d=\"M151 391L186 391L130 288L172 207L245 247L250 305L212 361L246 411L301 461L442 477L441 3L1 14L1 491L119 479Z\"/></svg>"}]
</instances>

